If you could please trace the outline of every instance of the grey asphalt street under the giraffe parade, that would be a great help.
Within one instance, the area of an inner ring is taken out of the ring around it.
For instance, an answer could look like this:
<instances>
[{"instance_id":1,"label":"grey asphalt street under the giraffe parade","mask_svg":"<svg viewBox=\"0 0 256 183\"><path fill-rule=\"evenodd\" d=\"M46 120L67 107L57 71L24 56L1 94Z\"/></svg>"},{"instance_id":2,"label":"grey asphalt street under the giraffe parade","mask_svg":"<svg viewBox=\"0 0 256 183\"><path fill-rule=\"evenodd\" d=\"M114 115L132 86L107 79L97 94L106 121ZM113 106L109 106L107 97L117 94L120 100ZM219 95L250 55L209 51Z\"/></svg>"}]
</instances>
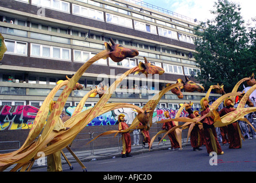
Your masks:
<instances>
[{"instance_id":1,"label":"grey asphalt street under the giraffe parade","mask_svg":"<svg viewBox=\"0 0 256 183\"><path fill-rule=\"evenodd\" d=\"M183 150L158 150L135 154L127 158L109 158L83 162L88 172L255 172L256 139L242 141L241 149L222 146L223 155L209 156L205 146L192 151L191 146ZM212 160L215 159L215 164ZM83 172L78 163L67 164L63 172ZM32 169L32 172L46 172L46 168ZM107 173L106 173L107 175ZM168 174L165 174L169 176Z\"/></svg>"}]
</instances>

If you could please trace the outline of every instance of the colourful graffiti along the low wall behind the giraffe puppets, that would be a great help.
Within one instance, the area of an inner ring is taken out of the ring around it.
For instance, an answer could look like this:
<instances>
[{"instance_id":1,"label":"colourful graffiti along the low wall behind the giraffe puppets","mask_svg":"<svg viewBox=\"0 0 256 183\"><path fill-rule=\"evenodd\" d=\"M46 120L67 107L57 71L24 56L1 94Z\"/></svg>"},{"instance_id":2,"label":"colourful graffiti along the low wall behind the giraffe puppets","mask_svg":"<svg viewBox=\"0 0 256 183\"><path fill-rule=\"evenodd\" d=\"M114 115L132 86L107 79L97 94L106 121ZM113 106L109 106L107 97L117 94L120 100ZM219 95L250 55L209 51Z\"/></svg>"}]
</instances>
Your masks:
<instances>
[{"instance_id":1,"label":"colourful graffiti along the low wall behind the giraffe puppets","mask_svg":"<svg viewBox=\"0 0 256 183\"><path fill-rule=\"evenodd\" d=\"M72 116L75 111L76 106L67 106L64 108L65 113ZM83 111L90 107L84 106ZM30 129L34 118L39 110L37 106L21 105L21 106L0 106L0 130L18 130L18 129ZM197 109L198 110L198 109ZM168 111L171 117L174 118L177 110L175 109L155 109L153 114L153 121L165 120L164 112ZM101 116L98 116L92 120L88 126L100 126L100 125L115 125L117 124L117 117L119 114L125 114L127 124L131 124L136 117L136 112L130 108L115 109L113 111L107 112ZM181 113L182 117L187 116L187 112L183 110Z\"/></svg>"}]
</instances>

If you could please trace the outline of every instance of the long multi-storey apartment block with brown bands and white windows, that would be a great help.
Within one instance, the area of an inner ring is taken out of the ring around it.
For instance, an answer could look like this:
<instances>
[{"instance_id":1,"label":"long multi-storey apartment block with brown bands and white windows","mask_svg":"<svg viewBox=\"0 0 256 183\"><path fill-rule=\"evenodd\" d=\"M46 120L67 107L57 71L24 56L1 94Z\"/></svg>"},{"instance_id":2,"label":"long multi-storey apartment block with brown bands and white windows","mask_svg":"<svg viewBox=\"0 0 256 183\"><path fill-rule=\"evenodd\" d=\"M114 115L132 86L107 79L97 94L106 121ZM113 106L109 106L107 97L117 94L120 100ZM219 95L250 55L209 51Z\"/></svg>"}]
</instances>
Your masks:
<instances>
[{"instance_id":1,"label":"long multi-storey apartment block with brown bands and white windows","mask_svg":"<svg viewBox=\"0 0 256 183\"><path fill-rule=\"evenodd\" d=\"M138 0L1 0L0 33L8 50L0 63L0 105L40 106L57 81L72 77L112 38L139 55L119 63L111 58L95 62L80 78L86 87L72 91L66 105L76 106L100 82L110 85L146 57L165 73L131 75L109 101L143 106L167 83L185 81L185 75L198 83L193 77L200 72L193 58L194 26L193 19ZM176 109L189 101L199 108L205 93L183 95L166 93L158 108ZM85 105L97 101L89 98Z\"/></svg>"}]
</instances>

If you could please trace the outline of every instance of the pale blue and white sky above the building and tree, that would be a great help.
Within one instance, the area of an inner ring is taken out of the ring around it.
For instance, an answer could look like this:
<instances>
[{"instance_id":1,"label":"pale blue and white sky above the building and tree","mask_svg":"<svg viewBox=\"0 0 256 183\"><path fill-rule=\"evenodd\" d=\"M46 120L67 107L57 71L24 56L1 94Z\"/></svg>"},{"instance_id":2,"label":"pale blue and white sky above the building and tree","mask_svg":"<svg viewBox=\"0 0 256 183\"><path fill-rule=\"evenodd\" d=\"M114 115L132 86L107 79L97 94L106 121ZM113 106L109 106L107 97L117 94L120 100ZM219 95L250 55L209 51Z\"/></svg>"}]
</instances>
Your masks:
<instances>
[{"instance_id":1,"label":"pale blue and white sky above the building and tree","mask_svg":"<svg viewBox=\"0 0 256 183\"><path fill-rule=\"evenodd\" d=\"M210 10L214 10L214 2L217 0L142 0L143 2L162 7L184 15L186 17L205 22L207 19L213 19L214 15ZM254 0L230 0L230 2L239 3L241 6L241 15L243 20L251 21L256 17L256 1Z\"/></svg>"}]
</instances>

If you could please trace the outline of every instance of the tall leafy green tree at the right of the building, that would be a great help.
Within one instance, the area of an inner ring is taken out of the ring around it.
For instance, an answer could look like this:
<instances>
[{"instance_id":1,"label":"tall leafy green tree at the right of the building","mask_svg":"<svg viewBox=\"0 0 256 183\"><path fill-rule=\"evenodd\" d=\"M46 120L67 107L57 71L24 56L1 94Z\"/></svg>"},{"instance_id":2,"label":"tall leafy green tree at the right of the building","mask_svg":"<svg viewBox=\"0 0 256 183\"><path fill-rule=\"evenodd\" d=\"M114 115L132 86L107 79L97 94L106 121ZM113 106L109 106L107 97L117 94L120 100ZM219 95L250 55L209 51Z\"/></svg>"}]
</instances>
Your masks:
<instances>
[{"instance_id":1,"label":"tall leafy green tree at the right of the building","mask_svg":"<svg viewBox=\"0 0 256 183\"><path fill-rule=\"evenodd\" d=\"M250 49L249 31L240 13L241 7L228 0L215 2L212 20L200 22L195 28L195 59L201 69L197 77L207 90L211 85L224 84L231 92L242 78L255 70Z\"/></svg>"}]
</instances>

